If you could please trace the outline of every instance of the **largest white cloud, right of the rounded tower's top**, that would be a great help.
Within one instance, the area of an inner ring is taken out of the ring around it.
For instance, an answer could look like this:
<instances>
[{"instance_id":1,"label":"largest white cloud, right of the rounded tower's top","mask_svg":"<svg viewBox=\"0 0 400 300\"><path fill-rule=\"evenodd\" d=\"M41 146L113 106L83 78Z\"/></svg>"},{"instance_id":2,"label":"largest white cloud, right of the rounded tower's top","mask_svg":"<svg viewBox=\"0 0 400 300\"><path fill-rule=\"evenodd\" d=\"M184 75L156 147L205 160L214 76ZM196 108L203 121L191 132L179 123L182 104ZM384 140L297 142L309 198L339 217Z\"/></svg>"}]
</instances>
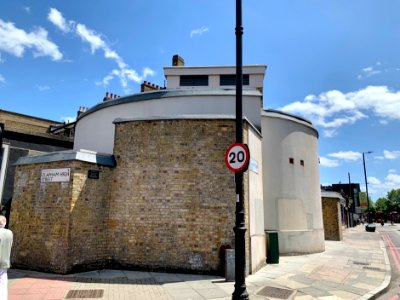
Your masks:
<instances>
[{"instance_id":1,"label":"largest white cloud, right of the rounded tower's top","mask_svg":"<svg viewBox=\"0 0 400 300\"><path fill-rule=\"evenodd\" d=\"M383 122L400 120L400 91L391 91L386 86L367 86L349 93L332 90L318 96L308 95L303 101L296 101L279 108L311 120L314 125L332 137L344 125L374 115Z\"/></svg>"}]
</instances>

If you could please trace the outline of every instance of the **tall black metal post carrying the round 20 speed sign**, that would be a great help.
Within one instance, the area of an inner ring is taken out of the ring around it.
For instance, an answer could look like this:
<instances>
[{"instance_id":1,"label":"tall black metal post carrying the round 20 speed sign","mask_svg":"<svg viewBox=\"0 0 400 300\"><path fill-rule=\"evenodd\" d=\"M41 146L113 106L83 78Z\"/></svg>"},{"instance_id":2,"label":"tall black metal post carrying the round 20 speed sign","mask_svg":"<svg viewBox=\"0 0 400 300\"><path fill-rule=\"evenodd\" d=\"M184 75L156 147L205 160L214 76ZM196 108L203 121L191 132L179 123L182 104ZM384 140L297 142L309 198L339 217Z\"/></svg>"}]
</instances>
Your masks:
<instances>
[{"instance_id":1,"label":"tall black metal post carrying the round 20 speed sign","mask_svg":"<svg viewBox=\"0 0 400 300\"><path fill-rule=\"evenodd\" d=\"M236 0L236 142L243 143L243 62L242 62L242 1ZM235 173L236 182L236 224L235 228L235 290L232 300L249 299L246 290L246 224L243 201L243 172Z\"/></svg>"}]
</instances>

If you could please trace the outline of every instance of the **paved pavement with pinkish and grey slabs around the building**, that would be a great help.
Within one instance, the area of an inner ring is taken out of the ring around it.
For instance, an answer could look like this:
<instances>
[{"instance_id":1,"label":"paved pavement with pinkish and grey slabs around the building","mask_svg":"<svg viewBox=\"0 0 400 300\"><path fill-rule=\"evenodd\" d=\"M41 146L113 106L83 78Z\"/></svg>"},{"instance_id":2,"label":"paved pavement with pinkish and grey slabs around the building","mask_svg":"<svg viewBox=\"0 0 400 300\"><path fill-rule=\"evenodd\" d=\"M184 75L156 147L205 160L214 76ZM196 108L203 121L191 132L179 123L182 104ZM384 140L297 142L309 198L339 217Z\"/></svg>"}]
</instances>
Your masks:
<instances>
[{"instance_id":1,"label":"paved pavement with pinkish and grey slabs around the building","mask_svg":"<svg viewBox=\"0 0 400 300\"><path fill-rule=\"evenodd\" d=\"M378 226L377 226L378 228ZM250 299L374 299L389 286L391 268L379 233L358 225L322 253L281 256L246 278ZM218 276L98 270L54 275L10 269L9 300L228 300L234 282Z\"/></svg>"}]
</instances>

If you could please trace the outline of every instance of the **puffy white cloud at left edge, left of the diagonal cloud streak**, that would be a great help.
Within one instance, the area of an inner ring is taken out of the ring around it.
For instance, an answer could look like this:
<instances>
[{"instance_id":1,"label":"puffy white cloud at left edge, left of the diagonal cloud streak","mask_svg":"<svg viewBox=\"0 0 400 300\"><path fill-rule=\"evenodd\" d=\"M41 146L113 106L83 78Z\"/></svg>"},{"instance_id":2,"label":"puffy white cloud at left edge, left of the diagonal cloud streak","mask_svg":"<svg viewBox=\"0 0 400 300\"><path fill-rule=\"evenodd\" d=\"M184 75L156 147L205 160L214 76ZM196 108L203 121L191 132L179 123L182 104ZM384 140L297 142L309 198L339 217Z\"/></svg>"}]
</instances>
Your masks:
<instances>
[{"instance_id":1,"label":"puffy white cloud at left edge, left of the diagonal cloud streak","mask_svg":"<svg viewBox=\"0 0 400 300\"><path fill-rule=\"evenodd\" d=\"M22 57L26 49L32 49L34 57L49 56L52 60L62 59L58 46L48 39L47 31L37 27L26 32L11 22L0 19L0 50Z\"/></svg>"}]
</instances>

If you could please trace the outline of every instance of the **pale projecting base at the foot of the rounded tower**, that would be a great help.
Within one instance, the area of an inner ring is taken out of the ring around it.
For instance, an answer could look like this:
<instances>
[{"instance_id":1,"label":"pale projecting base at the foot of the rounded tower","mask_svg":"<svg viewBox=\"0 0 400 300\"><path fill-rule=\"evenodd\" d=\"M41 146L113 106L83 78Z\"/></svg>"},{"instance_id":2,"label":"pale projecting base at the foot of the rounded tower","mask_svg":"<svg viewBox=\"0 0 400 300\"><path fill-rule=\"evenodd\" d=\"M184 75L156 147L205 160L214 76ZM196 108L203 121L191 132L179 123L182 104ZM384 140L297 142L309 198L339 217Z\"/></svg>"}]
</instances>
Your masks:
<instances>
[{"instance_id":1,"label":"pale projecting base at the foot of the rounded tower","mask_svg":"<svg viewBox=\"0 0 400 300\"><path fill-rule=\"evenodd\" d=\"M278 231L279 254L301 255L325 251L324 230Z\"/></svg>"}]
</instances>

